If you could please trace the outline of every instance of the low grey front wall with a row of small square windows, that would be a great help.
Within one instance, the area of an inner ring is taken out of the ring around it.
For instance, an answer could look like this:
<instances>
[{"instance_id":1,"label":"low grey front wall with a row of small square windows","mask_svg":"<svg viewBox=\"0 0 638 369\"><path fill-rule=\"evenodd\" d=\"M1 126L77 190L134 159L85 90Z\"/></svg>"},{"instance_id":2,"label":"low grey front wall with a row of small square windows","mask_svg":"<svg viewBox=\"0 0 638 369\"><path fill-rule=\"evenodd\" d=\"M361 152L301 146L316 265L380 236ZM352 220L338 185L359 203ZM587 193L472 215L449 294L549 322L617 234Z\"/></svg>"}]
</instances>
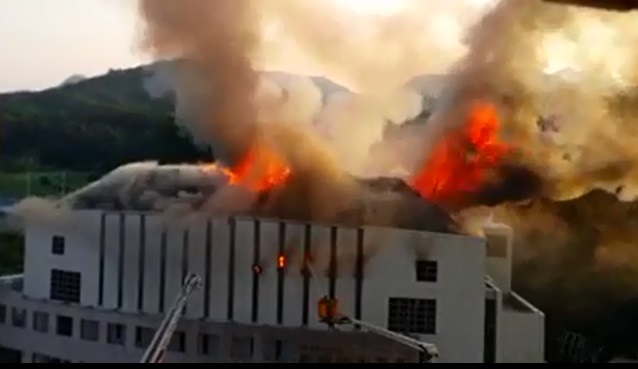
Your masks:
<instances>
[{"instance_id":1,"label":"low grey front wall with a row of small square windows","mask_svg":"<svg viewBox=\"0 0 638 369\"><path fill-rule=\"evenodd\" d=\"M142 316L71 306L50 301L24 298L19 293L0 286L0 305L7 308L4 322L0 322L0 347L22 351L23 362L31 362L33 354L46 355L70 362L85 363L134 363L144 350L136 345L136 327L156 329L161 316ZM25 309L27 321L24 328L11 325L11 309ZM33 313L49 315L48 332L33 329ZM57 315L73 317L73 334L63 337L56 334ZM99 323L98 341L82 339L82 319ZM126 327L123 345L107 341L107 324L117 323ZM243 325L239 323L201 322L182 319L177 332L185 334L185 351L167 353L168 363L217 363L217 362L297 362L301 355L307 360L333 362L414 362L416 353L405 346L366 333L307 331L269 326ZM211 352L201 350L202 334L217 339ZM233 356L233 342L237 339L252 343L253 356ZM282 343L281 356L276 357L274 343ZM322 359L323 358L323 359Z\"/></svg>"}]
</instances>

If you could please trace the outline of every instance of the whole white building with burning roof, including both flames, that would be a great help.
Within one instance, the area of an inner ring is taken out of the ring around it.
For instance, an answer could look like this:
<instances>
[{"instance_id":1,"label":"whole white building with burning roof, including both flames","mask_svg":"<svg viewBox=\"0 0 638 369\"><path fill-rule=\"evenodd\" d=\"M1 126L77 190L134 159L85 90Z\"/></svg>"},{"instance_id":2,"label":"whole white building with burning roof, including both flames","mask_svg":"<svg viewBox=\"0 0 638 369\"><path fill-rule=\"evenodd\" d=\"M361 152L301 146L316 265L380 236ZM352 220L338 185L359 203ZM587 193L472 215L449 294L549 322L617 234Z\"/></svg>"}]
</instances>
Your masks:
<instances>
[{"instance_id":1,"label":"whole white building with burning roof, including both flames","mask_svg":"<svg viewBox=\"0 0 638 369\"><path fill-rule=\"evenodd\" d=\"M121 167L47 219L23 204L25 274L20 293L3 291L10 324L0 337L12 342L0 343L24 361L137 361L194 272L203 288L188 301L169 361L417 359L356 327L319 322L325 295L349 316L434 343L443 362L542 362L544 315L511 287L511 228L484 225L486 239L470 237L452 215L518 199L499 190L517 176L529 180L521 191L536 188L534 176L502 165L510 148L494 136L494 112L473 107L469 129L443 138L407 180L356 178L295 161L295 152L253 149L228 167ZM465 160L468 150L475 156ZM61 344L34 352L53 332Z\"/></svg>"}]
</instances>

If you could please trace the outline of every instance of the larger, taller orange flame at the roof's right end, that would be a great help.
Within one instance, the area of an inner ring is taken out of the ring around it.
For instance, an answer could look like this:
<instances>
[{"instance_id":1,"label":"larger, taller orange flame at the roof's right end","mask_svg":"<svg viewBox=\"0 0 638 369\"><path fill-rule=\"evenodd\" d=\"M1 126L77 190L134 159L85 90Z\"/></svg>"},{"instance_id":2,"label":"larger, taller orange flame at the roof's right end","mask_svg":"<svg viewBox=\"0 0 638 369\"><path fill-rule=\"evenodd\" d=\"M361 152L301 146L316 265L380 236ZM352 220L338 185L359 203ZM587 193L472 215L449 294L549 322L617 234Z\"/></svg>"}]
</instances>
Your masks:
<instances>
[{"instance_id":1,"label":"larger, taller orange flame at the roof's right end","mask_svg":"<svg viewBox=\"0 0 638 369\"><path fill-rule=\"evenodd\" d=\"M434 147L413 178L421 196L454 208L480 190L510 147L499 141L500 122L494 105L477 103L461 130L450 132Z\"/></svg>"}]
</instances>

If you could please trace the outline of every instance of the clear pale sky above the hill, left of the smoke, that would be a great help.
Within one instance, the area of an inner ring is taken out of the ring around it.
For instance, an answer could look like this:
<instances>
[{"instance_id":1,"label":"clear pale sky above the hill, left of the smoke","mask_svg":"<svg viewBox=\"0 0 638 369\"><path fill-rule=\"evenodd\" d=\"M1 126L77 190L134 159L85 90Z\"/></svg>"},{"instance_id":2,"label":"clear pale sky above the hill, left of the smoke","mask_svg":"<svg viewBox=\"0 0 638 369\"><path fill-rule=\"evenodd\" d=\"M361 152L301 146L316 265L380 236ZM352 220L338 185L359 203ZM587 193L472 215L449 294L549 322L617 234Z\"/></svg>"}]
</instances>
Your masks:
<instances>
[{"instance_id":1,"label":"clear pale sky above the hill, left of the smoke","mask_svg":"<svg viewBox=\"0 0 638 369\"><path fill-rule=\"evenodd\" d=\"M0 92L144 62L134 0L0 0Z\"/></svg>"}]
</instances>

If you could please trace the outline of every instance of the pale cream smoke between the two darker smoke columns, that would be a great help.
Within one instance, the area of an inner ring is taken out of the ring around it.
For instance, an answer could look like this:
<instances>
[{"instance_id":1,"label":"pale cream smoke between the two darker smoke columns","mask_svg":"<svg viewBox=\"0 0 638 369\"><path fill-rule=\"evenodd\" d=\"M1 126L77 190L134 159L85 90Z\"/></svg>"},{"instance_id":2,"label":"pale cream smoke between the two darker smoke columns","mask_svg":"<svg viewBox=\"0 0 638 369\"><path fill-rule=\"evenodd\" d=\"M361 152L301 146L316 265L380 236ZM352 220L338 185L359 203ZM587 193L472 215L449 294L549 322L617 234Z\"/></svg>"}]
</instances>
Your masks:
<instances>
[{"instance_id":1,"label":"pale cream smoke between the two darker smoke columns","mask_svg":"<svg viewBox=\"0 0 638 369\"><path fill-rule=\"evenodd\" d=\"M256 4L263 39L253 61L262 68L323 75L354 91L328 97L315 131L348 172L387 175L386 168L371 162L371 148L383 139L387 125L403 123L423 109L422 97L406 83L446 72L466 51L464 30L491 5L476 0L264 0ZM403 154L421 156L422 150L414 147Z\"/></svg>"}]
</instances>

